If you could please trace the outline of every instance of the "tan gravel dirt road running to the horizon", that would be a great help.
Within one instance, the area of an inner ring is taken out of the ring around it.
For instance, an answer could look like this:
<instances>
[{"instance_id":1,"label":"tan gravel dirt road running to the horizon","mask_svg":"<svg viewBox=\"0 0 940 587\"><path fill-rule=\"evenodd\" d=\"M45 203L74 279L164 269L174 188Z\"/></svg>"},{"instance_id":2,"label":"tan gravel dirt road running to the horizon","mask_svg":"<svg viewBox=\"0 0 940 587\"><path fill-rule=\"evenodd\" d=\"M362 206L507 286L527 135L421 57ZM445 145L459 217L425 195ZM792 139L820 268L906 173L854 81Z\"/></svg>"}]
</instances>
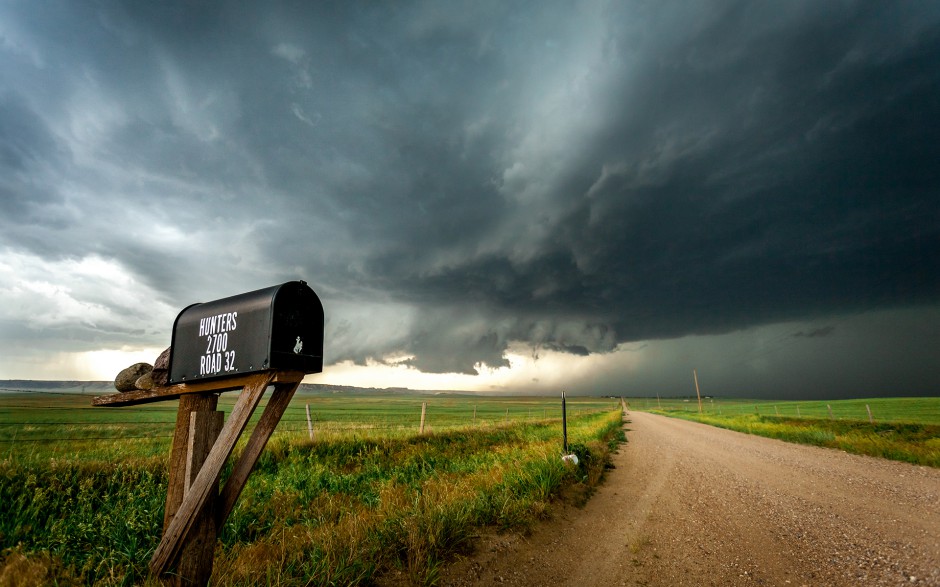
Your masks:
<instances>
[{"instance_id":1,"label":"tan gravel dirt road running to the horizon","mask_svg":"<svg viewBox=\"0 0 940 587\"><path fill-rule=\"evenodd\" d=\"M940 470L631 412L583 509L444 585L940 585Z\"/></svg>"}]
</instances>

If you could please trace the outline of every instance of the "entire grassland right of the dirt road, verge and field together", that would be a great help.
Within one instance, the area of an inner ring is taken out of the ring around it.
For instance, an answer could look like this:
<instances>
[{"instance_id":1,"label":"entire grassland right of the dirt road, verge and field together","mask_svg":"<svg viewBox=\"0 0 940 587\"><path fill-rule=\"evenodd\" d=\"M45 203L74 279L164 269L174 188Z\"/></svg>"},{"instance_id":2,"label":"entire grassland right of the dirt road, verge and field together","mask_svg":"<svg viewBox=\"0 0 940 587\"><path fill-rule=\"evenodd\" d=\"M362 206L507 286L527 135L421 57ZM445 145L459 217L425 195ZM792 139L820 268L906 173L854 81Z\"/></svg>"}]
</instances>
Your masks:
<instances>
[{"instance_id":1,"label":"entire grassland right of the dirt road, verge and field together","mask_svg":"<svg viewBox=\"0 0 940 587\"><path fill-rule=\"evenodd\" d=\"M777 402L633 398L649 410L788 442L940 467L940 398ZM870 414L870 416L869 416Z\"/></svg>"}]
</instances>

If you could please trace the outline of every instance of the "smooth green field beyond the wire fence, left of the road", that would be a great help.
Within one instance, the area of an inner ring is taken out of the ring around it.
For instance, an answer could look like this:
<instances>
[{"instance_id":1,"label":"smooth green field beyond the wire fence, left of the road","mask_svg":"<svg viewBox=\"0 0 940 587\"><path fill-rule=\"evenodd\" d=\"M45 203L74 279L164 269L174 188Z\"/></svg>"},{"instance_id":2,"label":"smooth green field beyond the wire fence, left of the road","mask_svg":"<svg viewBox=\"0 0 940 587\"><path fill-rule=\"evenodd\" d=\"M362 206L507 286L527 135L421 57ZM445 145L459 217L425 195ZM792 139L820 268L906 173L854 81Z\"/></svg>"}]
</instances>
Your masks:
<instances>
[{"instance_id":1,"label":"smooth green field beyond the wire fence, left of the road","mask_svg":"<svg viewBox=\"0 0 940 587\"><path fill-rule=\"evenodd\" d=\"M167 454L176 402L93 408L93 397L74 392L0 392L0 459L94 462ZM235 393L222 394L219 409L227 414L236 398ZM428 432L561 417L560 397L329 393L301 388L275 435L307 436L307 404L317 437L355 432L408 435L418 431L422 403L427 403ZM596 397L569 397L567 403L569 417L619 406L619 400ZM255 421L263 407L256 410Z\"/></svg>"}]
</instances>

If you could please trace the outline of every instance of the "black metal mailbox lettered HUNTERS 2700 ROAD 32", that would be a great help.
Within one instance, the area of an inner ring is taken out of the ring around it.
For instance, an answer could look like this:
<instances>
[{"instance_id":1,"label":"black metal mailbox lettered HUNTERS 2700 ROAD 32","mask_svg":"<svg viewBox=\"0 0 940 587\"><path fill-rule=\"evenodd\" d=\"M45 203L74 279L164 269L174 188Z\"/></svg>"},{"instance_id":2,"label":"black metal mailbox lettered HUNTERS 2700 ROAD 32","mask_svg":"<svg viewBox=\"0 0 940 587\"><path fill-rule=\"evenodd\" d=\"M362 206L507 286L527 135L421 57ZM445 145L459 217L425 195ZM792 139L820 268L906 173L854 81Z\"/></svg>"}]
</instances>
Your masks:
<instances>
[{"instance_id":1,"label":"black metal mailbox lettered HUNTERS 2700 ROAD 32","mask_svg":"<svg viewBox=\"0 0 940 587\"><path fill-rule=\"evenodd\" d=\"M176 317L170 382L323 370L323 305L303 281L193 304Z\"/></svg>"}]
</instances>

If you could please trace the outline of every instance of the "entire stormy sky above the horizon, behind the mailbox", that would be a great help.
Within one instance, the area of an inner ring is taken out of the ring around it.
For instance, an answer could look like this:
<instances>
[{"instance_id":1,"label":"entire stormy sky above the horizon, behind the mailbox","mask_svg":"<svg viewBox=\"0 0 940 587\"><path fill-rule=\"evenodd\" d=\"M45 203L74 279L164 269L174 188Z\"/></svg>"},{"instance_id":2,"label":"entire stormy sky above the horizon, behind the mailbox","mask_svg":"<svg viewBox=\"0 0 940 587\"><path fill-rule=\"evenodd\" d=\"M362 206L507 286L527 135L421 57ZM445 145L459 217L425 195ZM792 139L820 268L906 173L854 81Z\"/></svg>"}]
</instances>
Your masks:
<instances>
[{"instance_id":1,"label":"entire stormy sky above the horizon, behind the mailbox","mask_svg":"<svg viewBox=\"0 0 940 587\"><path fill-rule=\"evenodd\" d=\"M0 3L0 379L297 279L308 382L940 395L940 3Z\"/></svg>"}]
</instances>

